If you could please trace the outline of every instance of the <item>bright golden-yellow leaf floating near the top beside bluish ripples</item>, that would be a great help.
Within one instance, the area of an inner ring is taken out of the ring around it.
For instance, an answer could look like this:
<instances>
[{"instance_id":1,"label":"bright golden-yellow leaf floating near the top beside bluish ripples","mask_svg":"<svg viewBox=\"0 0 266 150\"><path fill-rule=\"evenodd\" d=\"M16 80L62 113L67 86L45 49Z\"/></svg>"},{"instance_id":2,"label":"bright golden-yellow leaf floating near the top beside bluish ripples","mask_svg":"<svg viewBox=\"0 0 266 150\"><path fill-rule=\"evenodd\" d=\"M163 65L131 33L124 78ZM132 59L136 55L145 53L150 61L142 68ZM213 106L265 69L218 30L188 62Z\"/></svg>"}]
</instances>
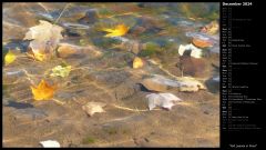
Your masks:
<instances>
[{"instance_id":1,"label":"bright golden-yellow leaf floating near the top beside bluish ripples","mask_svg":"<svg viewBox=\"0 0 266 150\"><path fill-rule=\"evenodd\" d=\"M120 37L120 36L124 36L125 33L127 33L129 29L130 28L126 27L125 24L117 24L114 29L104 28L102 30L105 32L109 32L104 37Z\"/></svg>"}]
</instances>

